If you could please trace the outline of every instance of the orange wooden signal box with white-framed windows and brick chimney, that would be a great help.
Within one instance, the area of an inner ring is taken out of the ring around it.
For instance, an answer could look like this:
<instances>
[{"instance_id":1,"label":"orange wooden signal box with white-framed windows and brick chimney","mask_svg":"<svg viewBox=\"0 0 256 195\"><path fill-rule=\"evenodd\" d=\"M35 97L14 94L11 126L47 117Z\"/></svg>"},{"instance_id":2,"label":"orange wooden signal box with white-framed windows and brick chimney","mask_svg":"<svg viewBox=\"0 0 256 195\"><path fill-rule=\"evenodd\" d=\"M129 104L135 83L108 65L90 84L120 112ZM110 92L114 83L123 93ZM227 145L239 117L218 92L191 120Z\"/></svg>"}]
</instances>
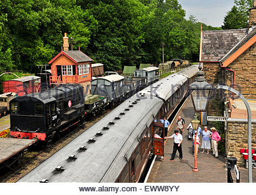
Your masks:
<instances>
[{"instance_id":1,"label":"orange wooden signal box with white-framed windows and brick chimney","mask_svg":"<svg viewBox=\"0 0 256 195\"><path fill-rule=\"evenodd\" d=\"M50 84L56 87L65 83L80 83L84 86L85 93L90 93L91 62L93 60L82 51L68 51L68 37L63 37L63 50L50 62Z\"/></svg>"}]
</instances>

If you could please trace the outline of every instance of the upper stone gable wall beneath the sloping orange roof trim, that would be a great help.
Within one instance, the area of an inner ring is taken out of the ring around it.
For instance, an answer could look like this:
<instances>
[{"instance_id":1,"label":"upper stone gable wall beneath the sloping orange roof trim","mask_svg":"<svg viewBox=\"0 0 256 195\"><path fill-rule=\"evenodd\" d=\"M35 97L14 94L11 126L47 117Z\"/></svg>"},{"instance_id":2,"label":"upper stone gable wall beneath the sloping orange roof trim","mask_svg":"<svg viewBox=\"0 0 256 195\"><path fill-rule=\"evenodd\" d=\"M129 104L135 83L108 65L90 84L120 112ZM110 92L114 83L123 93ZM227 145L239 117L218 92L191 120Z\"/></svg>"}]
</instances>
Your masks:
<instances>
[{"instance_id":1,"label":"upper stone gable wall beneath the sloping orange roof trim","mask_svg":"<svg viewBox=\"0 0 256 195\"><path fill-rule=\"evenodd\" d=\"M235 90L240 91L245 98L256 99L256 43L227 68L235 71ZM226 77L227 86L232 84L230 81Z\"/></svg>"}]
</instances>

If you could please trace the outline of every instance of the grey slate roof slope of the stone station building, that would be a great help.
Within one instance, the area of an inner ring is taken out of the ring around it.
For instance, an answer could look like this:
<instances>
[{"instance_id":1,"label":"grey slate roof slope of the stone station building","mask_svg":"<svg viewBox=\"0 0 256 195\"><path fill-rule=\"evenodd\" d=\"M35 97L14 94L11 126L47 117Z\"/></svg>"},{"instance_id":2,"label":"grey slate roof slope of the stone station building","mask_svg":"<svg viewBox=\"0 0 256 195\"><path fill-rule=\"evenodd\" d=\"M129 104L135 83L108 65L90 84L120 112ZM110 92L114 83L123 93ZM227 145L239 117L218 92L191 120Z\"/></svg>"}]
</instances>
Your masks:
<instances>
[{"instance_id":1,"label":"grey slate roof slope of the stone station building","mask_svg":"<svg viewBox=\"0 0 256 195\"><path fill-rule=\"evenodd\" d=\"M201 61L221 60L247 33L247 29L202 32Z\"/></svg>"}]
</instances>

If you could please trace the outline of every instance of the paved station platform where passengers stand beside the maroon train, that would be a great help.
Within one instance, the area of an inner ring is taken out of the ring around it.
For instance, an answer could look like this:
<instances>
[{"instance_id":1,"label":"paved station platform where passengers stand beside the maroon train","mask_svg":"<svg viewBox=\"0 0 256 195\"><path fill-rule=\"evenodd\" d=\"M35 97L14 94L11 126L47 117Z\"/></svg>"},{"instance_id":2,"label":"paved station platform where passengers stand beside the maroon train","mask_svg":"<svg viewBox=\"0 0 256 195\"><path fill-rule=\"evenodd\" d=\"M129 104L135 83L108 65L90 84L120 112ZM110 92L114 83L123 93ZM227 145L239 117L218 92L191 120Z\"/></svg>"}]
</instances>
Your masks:
<instances>
[{"instance_id":1,"label":"paved station platform where passengers stand beside the maroon train","mask_svg":"<svg viewBox=\"0 0 256 195\"><path fill-rule=\"evenodd\" d=\"M173 148L173 139L165 141L165 158L160 160L160 157L155 158L154 165L148 179L145 182L148 183L227 183L227 159L223 155L219 154L218 158L215 158L210 152L204 152L203 154L201 145L199 146L199 156L197 157L197 168L199 172L193 172L194 168L194 156L192 153L192 140L187 139L188 130L187 126L194 116L194 107L191 98L180 108L176 118L169 118L171 126L168 130L168 136L171 136L176 129L176 121L179 116L185 119L185 130L183 132L182 152L183 159L179 160L179 152L176 152L176 158L170 161ZM203 130L204 128L202 128ZM210 126L208 126L210 130ZM202 138L201 141L202 143ZM238 167L240 171L240 182L248 182L248 170L243 167ZM253 182L256 182L256 170L252 170ZM235 173L232 171L233 181L236 182Z\"/></svg>"}]
</instances>

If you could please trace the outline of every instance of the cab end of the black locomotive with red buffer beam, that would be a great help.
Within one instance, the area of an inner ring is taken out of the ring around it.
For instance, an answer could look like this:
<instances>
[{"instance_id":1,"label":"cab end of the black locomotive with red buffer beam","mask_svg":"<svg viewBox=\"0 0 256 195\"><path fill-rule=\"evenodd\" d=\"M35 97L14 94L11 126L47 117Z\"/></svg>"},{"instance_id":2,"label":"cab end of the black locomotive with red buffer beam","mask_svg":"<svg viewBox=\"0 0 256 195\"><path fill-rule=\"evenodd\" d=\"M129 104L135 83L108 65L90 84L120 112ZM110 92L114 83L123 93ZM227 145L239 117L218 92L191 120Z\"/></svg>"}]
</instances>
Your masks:
<instances>
[{"instance_id":1,"label":"cab end of the black locomotive with red buffer beam","mask_svg":"<svg viewBox=\"0 0 256 195\"><path fill-rule=\"evenodd\" d=\"M55 98L44 99L37 93L10 101L10 130L12 137L34 137L45 140L46 130L57 126Z\"/></svg>"}]
</instances>

